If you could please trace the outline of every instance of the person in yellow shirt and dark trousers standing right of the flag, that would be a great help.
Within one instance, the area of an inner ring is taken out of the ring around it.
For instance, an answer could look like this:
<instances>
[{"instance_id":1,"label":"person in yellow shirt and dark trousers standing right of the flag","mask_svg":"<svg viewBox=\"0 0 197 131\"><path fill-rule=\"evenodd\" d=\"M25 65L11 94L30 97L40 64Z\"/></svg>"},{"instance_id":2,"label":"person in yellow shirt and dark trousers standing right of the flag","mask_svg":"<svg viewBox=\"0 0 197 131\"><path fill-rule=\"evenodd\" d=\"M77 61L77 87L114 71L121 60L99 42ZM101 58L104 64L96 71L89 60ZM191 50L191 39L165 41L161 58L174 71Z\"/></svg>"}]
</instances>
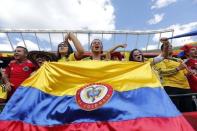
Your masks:
<instances>
[{"instance_id":1,"label":"person in yellow shirt and dark trousers standing right of the flag","mask_svg":"<svg viewBox=\"0 0 197 131\"><path fill-rule=\"evenodd\" d=\"M190 93L190 87L185 76L187 71L179 59L172 57L172 45L167 38L161 38L161 46L164 60L157 63L154 68L159 72L161 83L169 95ZM172 97L171 100L181 112L192 111L192 101L190 97Z\"/></svg>"}]
</instances>

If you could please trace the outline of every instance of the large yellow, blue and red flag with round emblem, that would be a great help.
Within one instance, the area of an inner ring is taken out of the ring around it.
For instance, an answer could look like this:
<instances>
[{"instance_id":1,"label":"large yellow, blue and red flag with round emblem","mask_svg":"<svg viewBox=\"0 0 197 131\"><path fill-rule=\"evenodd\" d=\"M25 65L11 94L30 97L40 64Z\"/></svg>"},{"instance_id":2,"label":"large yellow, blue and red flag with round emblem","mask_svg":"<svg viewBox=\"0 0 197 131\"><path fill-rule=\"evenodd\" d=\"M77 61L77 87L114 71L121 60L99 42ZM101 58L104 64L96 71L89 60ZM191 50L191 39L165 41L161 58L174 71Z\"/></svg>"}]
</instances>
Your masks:
<instances>
[{"instance_id":1,"label":"large yellow, blue and red flag with round emblem","mask_svg":"<svg viewBox=\"0 0 197 131\"><path fill-rule=\"evenodd\" d=\"M0 114L0 131L193 131L149 63L45 63Z\"/></svg>"}]
</instances>

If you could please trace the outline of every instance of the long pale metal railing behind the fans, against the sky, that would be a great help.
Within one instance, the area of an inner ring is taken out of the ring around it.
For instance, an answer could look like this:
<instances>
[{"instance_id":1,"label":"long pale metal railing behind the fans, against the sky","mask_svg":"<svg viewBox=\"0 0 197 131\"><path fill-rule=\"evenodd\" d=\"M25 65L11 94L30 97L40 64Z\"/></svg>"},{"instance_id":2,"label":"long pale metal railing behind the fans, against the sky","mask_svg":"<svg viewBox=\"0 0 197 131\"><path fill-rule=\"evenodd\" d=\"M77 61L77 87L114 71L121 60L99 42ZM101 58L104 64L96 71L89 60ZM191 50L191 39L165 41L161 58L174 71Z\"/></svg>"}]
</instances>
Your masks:
<instances>
[{"instance_id":1,"label":"long pale metal railing behind the fans, against the sky","mask_svg":"<svg viewBox=\"0 0 197 131\"><path fill-rule=\"evenodd\" d=\"M162 34L165 33L170 33L171 36L173 36L174 30L172 29L166 29L166 30L148 30L148 31L130 31L130 30L113 30L113 31L96 31L96 30L39 30L39 29L0 29L0 33L3 33L4 35L3 38L4 40L7 39L7 44L10 45L11 50L13 51L15 46L16 46L16 39L21 40L23 42L25 47L28 47L28 43L26 42L27 37L25 37L25 34L29 34L31 36L31 41L37 44L38 50L43 50L41 48L41 45L44 43L43 39L45 42L47 41L46 44L49 44L48 47L50 47L50 51L56 50L56 46L54 46L54 42L52 41L53 34L58 34L62 38L59 40L59 42L64 40L64 37L66 33L68 32L73 32L76 34L77 37L80 37L82 39L87 39L87 41L83 41L84 45L87 45L87 50L89 50L90 47L90 42L93 37L98 37L101 40L106 40L106 42L103 42L104 46L109 45L109 43L127 43L133 48L137 48L138 46L143 47L144 51L148 50L149 45L152 45L153 43L155 44L156 48L158 49L160 47L160 42L159 41L151 41L155 35L158 35L158 39L162 37ZM17 37L16 37L17 34ZM45 34L45 38L40 37L40 34ZM13 39L13 37L16 37L16 39ZM86 35L86 36L84 36ZM121 37L119 36L121 35ZM0 35L1 36L1 35ZM30 37L29 36L29 37ZM34 37L34 40L32 40ZM47 38L48 37L48 38ZM86 37L86 38L84 38ZM152 37L152 39L151 39ZM81 41L81 39L79 39ZM129 41L130 40L130 41ZM140 40L143 40L143 42ZM0 44L1 43L0 41ZM57 44L57 43L56 43Z\"/></svg>"}]
</instances>

